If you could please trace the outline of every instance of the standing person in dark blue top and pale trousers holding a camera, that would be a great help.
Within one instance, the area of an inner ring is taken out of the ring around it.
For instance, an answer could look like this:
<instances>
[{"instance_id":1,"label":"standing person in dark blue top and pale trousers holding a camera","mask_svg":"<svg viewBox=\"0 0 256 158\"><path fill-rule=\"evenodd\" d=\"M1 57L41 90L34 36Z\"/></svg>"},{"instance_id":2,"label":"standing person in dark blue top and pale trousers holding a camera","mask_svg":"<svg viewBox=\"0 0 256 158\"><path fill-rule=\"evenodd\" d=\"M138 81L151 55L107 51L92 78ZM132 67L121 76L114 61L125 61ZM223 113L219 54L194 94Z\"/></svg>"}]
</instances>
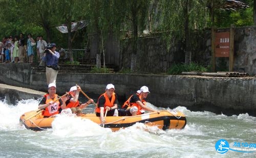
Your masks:
<instances>
[{"instance_id":1,"label":"standing person in dark blue top and pale trousers holding a camera","mask_svg":"<svg viewBox=\"0 0 256 158\"><path fill-rule=\"evenodd\" d=\"M44 51L44 58L43 61L46 62L46 80L47 84L55 83L56 78L59 70L58 66L58 59L59 59L59 52L56 50L56 44L51 43L48 44L45 51Z\"/></svg>"}]
</instances>

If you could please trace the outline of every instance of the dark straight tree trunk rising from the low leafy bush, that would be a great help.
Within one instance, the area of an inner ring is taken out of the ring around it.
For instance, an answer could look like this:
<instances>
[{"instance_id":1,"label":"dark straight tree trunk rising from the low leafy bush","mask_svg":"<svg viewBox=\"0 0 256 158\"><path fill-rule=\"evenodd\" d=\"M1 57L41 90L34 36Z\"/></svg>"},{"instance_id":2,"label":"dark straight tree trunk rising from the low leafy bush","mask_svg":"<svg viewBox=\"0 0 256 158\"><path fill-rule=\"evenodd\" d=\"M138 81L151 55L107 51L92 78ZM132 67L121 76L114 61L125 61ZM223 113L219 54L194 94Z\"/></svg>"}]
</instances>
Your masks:
<instances>
[{"instance_id":1,"label":"dark straight tree trunk rising from the low leafy bush","mask_svg":"<svg viewBox=\"0 0 256 158\"><path fill-rule=\"evenodd\" d=\"M189 47L189 28L188 28L188 20L189 20L189 15L188 15L188 2L189 0L186 0L185 2L185 8L184 8L184 16L185 16L185 21L184 21L184 29L185 29L185 64L189 64L191 62L191 50Z\"/></svg>"}]
</instances>

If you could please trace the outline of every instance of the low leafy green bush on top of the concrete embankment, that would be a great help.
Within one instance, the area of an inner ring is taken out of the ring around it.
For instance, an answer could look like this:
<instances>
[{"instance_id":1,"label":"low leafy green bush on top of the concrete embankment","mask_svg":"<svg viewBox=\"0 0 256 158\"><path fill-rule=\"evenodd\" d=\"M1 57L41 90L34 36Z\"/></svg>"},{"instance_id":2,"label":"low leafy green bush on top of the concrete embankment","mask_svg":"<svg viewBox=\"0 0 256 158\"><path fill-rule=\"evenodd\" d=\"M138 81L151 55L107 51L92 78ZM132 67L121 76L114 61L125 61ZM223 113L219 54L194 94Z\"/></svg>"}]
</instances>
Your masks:
<instances>
[{"instance_id":1,"label":"low leafy green bush on top of the concrete embankment","mask_svg":"<svg viewBox=\"0 0 256 158\"><path fill-rule=\"evenodd\" d=\"M181 72L207 72L208 69L198 63L191 62L189 64L179 63L173 64L171 68L167 70L167 74L181 74Z\"/></svg>"}]
</instances>

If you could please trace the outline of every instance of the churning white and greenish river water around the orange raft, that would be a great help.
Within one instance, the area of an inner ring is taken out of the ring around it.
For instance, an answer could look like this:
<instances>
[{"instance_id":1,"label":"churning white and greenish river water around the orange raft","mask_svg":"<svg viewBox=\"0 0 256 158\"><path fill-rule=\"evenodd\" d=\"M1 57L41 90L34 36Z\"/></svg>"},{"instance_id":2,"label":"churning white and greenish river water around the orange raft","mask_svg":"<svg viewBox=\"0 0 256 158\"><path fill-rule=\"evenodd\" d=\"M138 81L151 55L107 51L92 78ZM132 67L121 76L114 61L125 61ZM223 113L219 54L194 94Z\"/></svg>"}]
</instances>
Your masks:
<instances>
[{"instance_id":1,"label":"churning white and greenish river water around the orange raft","mask_svg":"<svg viewBox=\"0 0 256 158\"><path fill-rule=\"evenodd\" d=\"M256 143L256 117L248 114L225 116L177 107L174 110L187 118L184 129L163 131L138 123L116 132L90 120L60 116L52 129L35 132L20 126L19 117L37 109L38 102L21 100L13 106L0 101L0 157L256 157L256 147L234 146ZM215 148L220 139L229 148L254 152L221 154Z\"/></svg>"}]
</instances>

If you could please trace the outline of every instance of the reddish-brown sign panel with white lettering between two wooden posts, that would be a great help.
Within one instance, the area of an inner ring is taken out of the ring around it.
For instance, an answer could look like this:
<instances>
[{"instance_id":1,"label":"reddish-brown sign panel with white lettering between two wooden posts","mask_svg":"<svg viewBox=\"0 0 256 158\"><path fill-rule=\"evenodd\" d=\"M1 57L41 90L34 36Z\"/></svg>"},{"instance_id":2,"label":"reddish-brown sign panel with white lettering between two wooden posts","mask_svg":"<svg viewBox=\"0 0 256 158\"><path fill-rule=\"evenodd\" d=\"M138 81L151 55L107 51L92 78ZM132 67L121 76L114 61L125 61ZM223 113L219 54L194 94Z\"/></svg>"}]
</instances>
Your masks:
<instances>
[{"instance_id":1,"label":"reddish-brown sign panel with white lettering between two wooden posts","mask_svg":"<svg viewBox=\"0 0 256 158\"><path fill-rule=\"evenodd\" d=\"M216 33L215 57L229 57L229 32Z\"/></svg>"}]
</instances>

